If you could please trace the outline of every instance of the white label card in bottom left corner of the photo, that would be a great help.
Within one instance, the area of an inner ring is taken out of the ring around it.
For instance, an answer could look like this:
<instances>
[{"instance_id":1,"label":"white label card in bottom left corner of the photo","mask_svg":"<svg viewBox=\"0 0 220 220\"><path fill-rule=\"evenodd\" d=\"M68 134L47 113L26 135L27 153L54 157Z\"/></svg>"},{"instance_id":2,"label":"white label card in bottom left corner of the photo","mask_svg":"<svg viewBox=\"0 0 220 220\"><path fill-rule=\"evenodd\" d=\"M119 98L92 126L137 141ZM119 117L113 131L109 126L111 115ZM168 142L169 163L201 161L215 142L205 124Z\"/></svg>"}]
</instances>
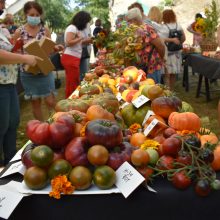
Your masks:
<instances>
[{"instance_id":1,"label":"white label card in bottom left corner of the photo","mask_svg":"<svg viewBox=\"0 0 220 220\"><path fill-rule=\"evenodd\" d=\"M22 198L22 194L6 191L0 187L0 217L8 219Z\"/></svg>"}]
</instances>

